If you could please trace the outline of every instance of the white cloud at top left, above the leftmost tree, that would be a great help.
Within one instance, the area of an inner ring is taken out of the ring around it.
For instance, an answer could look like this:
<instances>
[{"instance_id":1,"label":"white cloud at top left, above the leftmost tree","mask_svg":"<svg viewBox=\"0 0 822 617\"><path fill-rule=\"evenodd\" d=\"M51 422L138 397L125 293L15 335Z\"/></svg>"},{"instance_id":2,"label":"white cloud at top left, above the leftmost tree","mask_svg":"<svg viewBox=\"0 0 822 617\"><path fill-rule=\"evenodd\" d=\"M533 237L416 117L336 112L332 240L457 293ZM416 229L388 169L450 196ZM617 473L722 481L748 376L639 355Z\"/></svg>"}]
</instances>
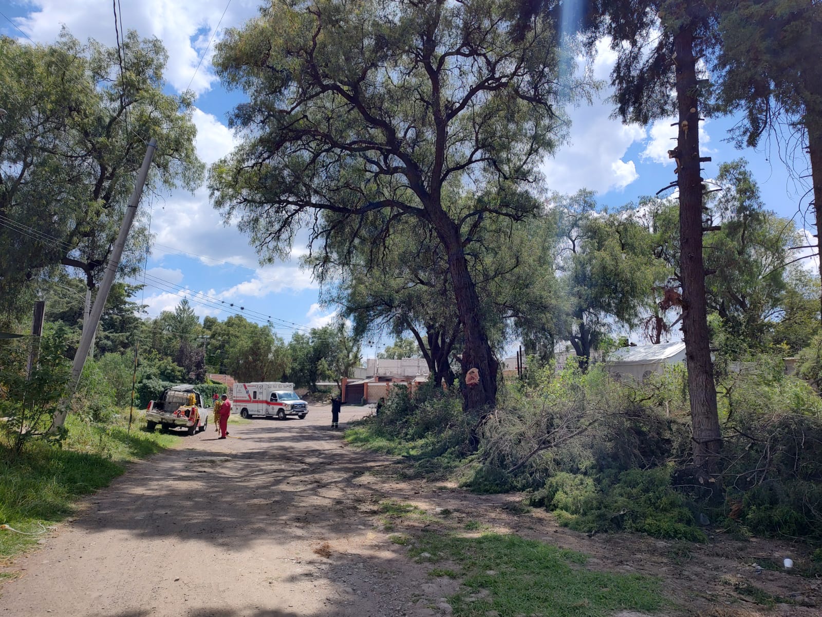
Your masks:
<instances>
[{"instance_id":1,"label":"white cloud at top left, above the leftmost tree","mask_svg":"<svg viewBox=\"0 0 822 617\"><path fill-rule=\"evenodd\" d=\"M32 11L16 20L16 25L39 43L52 42L65 25L78 39L91 37L107 45L115 44L111 3L88 0L30 0L28 3ZM225 0L123 2L122 26L124 31L136 30L143 37L156 36L162 40L169 52L166 69L169 83L182 91L191 82L192 90L201 93L216 81L211 56L222 32L256 15L258 4L257 0L231 2L207 53L206 47L226 8Z\"/></svg>"}]
</instances>

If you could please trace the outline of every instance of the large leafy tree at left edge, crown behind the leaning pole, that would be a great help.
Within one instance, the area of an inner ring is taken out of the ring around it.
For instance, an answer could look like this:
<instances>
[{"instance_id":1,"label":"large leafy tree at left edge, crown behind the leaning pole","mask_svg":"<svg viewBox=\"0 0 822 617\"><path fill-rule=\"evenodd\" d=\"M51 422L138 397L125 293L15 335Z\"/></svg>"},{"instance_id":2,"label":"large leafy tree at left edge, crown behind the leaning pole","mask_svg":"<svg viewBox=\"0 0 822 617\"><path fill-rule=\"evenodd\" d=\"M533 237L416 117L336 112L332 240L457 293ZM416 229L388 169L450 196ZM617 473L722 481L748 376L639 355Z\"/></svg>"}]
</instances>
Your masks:
<instances>
[{"instance_id":1,"label":"large leafy tree at left edge, crown behind the leaning pole","mask_svg":"<svg viewBox=\"0 0 822 617\"><path fill-rule=\"evenodd\" d=\"M201 183L192 98L164 92L167 58L133 31L119 50L65 30L48 46L0 38L0 308L16 312L31 281L61 265L95 287L150 137L148 188ZM147 240L137 225L132 248ZM121 269L140 253L124 253Z\"/></svg>"}]
</instances>

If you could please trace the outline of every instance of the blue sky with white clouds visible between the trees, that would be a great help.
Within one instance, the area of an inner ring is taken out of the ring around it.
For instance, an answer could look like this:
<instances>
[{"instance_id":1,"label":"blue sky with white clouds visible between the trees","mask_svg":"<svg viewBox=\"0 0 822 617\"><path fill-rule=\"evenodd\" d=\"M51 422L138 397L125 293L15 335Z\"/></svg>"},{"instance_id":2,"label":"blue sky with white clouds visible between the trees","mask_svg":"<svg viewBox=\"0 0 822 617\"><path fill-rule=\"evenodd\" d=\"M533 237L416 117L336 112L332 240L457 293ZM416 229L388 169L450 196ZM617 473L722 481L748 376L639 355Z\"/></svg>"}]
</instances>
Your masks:
<instances>
[{"instance_id":1,"label":"blue sky with white clouds visible between the trees","mask_svg":"<svg viewBox=\"0 0 822 617\"><path fill-rule=\"evenodd\" d=\"M231 150L234 141L226 126L227 114L239 100L238 93L226 92L215 78L210 67L213 45L206 47L212 35L219 40L226 27L240 26L256 15L258 2L232 0L228 9L226 6L226 0L122 0L124 28L137 30L142 36L155 35L168 49L169 90L184 90L192 82L198 94L194 114L197 151L206 163ZM64 24L79 39L93 37L114 44L109 0L0 0L0 7L30 39L40 43L56 39ZM27 40L2 17L0 34ZM196 70L200 58L204 59ZM607 45L601 45L593 65L595 77L606 79L613 59ZM603 92L603 97L607 94ZM571 193L592 188L604 205L616 208L672 182L673 165L667 159L670 137L675 136L672 119L649 127L624 126L609 118L611 111L602 101L570 109L573 124L569 143L543 164L549 189ZM723 161L744 156L760 183L766 206L780 216L796 215L806 187L789 178L775 149L738 151L725 142L727 128L733 123L733 118L715 118L704 124L703 155L713 157L705 164L704 177L713 178ZM806 197L801 203L803 209L807 201ZM242 306L250 317L272 316L275 329L286 340L297 327L322 325L333 318L335 308L318 304L316 283L309 272L298 267L296 258L305 248L295 246L289 262L260 267L247 238L233 226L224 226L210 207L205 188L193 195L146 196L141 207L150 211L151 231L156 237L148 262L149 286L145 288L150 314L173 308L181 296L187 296L201 316L225 318L229 313L218 307L224 306L222 302L233 303L233 310ZM813 229L810 220L803 221L801 215L796 220L797 227ZM808 262L808 266L812 264ZM389 344L390 339L382 336L378 346Z\"/></svg>"}]
</instances>

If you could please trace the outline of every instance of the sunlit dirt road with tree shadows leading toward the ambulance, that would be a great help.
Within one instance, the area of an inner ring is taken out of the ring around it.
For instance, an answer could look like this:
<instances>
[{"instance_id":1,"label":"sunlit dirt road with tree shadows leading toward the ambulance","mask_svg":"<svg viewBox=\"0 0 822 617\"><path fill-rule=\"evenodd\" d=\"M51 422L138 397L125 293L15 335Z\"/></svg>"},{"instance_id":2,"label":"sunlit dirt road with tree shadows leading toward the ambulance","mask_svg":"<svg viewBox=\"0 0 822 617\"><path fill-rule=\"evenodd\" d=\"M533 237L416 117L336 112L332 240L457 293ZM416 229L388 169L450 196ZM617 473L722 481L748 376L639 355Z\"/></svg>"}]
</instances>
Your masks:
<instances>
[{"instance_id":1,"label":"sunlit dirt road with tree shadows leading toward the ambulance","mask_svg":"<svg viewBox=\"0 0 822 617\"><path fill-rule=\"evenodd\" d=\"M398 567L401 547L359 512L373 499L358 477L385 462L344 448L325 406L230 430L185 438L90 498L17 561L0 615L413 615L424 569Z\"/></svg>"}]
</instances>

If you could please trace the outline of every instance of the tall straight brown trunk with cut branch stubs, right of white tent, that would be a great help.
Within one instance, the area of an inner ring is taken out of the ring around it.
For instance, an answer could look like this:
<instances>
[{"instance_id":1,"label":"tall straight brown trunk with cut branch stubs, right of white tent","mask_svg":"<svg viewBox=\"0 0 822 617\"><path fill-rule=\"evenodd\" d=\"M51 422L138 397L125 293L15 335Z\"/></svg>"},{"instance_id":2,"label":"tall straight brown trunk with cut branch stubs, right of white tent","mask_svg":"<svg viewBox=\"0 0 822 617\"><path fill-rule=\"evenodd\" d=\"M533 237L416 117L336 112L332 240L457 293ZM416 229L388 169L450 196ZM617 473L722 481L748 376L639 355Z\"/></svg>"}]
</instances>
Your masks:
<instances>
[{"instance_id":1,"label":"tall straight brown trunk with cut branch stubs, right of white tent","mask_svg":"<svg viewBox=\"0 0 822 617\"><path fill-rule=\"evenodd\" d=\"M685 335L690 420L694 464L711 471L722 446L717 393L709 346L705 271L702 256L702 193L700 178L698 86L693 31L683 28L674 37L679 107L679 230L682 285L682 332Z\"/></svg>"}]
</instances>

